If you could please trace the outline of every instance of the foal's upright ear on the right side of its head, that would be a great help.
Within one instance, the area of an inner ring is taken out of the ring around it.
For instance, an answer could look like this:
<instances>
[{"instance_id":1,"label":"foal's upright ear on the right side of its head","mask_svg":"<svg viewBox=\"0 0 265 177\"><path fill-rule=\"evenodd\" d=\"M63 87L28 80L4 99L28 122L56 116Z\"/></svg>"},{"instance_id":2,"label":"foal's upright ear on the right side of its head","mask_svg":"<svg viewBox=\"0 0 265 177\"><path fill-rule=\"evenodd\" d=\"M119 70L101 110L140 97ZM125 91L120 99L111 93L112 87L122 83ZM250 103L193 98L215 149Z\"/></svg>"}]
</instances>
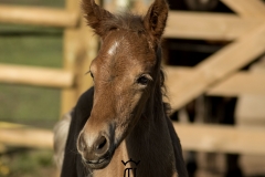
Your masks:
<instances>
[{"instance_id":1,"label":"foal's upright ear on the right side of its head","mask_svg":"<svg viewBox=\"0 0 265 177\"><path fill-rule=\"evenodd\" d=\"M168 19L168 9L166 0L155 0L144 19L145 28L156 40L160 40L163 33Z\"/></svg>"}]
</instances>

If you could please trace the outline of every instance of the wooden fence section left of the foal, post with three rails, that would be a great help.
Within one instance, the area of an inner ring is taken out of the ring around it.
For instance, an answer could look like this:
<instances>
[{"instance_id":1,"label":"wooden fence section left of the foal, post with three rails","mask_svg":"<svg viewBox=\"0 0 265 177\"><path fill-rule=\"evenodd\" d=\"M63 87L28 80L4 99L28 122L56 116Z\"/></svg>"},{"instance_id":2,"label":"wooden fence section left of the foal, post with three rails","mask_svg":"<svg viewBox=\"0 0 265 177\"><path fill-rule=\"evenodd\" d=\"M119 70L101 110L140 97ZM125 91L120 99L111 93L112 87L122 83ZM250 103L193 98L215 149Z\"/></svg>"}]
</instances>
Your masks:
<instances>
[{"instance_id":1,"label":"wooden fence section left of the foal, post with three rails","mask_svg":"<svg viewBox=\"0 0 265 177\"><path fill-rule=\"evenodd\" d=\"M38 15L35 15L38 14ZM92 81L84 73L97 51L97 39L86 28L80 2L66 0L65 9L0 4L0 22L63 28L63 69L0 63L0 82L49 86L62 90L61 114L68 112ZM23 125L0 124L0 143L26 147L52 148L51 131ZM21 135L24 135L21 139Z\"/></svg>"}]
</instances>

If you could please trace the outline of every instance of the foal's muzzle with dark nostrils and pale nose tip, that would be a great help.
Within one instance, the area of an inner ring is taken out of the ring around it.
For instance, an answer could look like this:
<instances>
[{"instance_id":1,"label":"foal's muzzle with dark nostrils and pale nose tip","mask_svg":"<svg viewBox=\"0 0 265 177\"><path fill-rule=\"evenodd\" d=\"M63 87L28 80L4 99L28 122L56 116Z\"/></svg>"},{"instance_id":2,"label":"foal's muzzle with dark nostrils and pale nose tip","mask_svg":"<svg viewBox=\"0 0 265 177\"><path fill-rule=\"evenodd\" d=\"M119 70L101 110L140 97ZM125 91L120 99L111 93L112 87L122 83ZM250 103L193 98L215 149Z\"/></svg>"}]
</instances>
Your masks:
<instances>
[{"instance_id":1,"label":"foal's muzzle with dark nostrils and pale nose tip","mask_svg":"<svg viewBox=\"0 0 265 177\"><path fill-rule=\"evenodd\" d=\"M82 132L77 139L77 149L86 165L93 169L106 167L113 156L110 140L103 134L94 138Z\"/></svg>"}]
</instances>

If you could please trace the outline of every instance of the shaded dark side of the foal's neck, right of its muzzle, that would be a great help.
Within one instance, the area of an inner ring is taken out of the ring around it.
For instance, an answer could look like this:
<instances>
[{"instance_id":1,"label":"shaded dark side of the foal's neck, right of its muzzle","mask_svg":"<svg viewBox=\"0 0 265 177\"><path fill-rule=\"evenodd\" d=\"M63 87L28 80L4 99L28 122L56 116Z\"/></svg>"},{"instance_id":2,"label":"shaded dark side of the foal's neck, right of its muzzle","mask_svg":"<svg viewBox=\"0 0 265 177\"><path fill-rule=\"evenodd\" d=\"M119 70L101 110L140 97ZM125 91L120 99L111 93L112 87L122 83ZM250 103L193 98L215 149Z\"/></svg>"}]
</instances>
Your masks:
<instances>
[{"instance_id":1,"label":"shaded dark side of the foal's neck, right of its muzzle","mask_svg":"<svg viewBox=\"0 0 265 177\"><path fill-rule=\"evenodd\" d=\"M155 92L157 92L155 90ZM171 176L174 164L161 90L149 98L138 124L125 139L127 158L140 160L139 176ZM137 166L137 167L138 167Z\"/></svg>"}]
</instances>

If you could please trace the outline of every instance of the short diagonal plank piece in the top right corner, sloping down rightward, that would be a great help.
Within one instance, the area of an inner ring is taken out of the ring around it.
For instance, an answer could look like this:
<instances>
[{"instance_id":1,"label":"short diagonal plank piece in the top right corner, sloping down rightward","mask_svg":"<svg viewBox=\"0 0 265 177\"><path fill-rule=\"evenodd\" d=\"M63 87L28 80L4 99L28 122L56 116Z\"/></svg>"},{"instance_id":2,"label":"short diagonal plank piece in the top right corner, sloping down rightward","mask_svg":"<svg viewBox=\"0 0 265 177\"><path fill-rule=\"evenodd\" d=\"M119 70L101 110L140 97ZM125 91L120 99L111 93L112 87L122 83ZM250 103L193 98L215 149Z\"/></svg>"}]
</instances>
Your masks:
<instances>
[{"instance_id":1,"label":"short diagonal plank piece in the top right corner, sloping down rightward","mask_svg":"<svg viewBox=\"0 0 265 177\"><path fill-rule=\"evenodd\" d=\"M265 18L265 3L262 0L221 0L243 18Z\"/></svg>"}]
</instances>

